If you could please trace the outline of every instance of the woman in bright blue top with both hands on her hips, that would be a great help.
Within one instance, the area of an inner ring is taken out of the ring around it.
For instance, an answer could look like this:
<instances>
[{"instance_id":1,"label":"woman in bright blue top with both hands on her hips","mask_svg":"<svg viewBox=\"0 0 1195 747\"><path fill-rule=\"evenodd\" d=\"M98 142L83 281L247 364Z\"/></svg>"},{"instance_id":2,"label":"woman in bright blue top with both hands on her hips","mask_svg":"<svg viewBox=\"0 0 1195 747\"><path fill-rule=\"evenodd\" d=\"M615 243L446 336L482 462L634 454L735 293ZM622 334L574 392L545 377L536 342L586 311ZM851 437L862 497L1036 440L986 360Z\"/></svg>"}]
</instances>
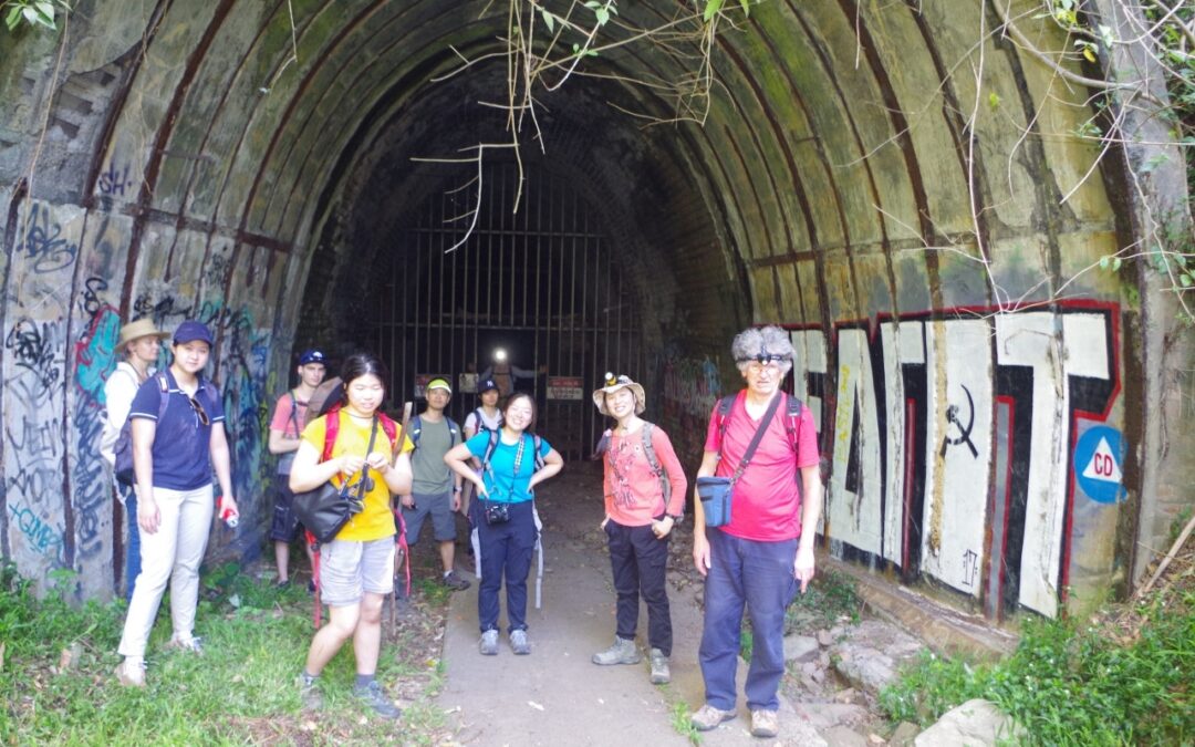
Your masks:
<instances>
[{"instance_id":1,"label":"woman in bright blue top with both hands on her hips","mask_svg":"<svg viewBox=\"0 0 1195 747\"><path fill-rule=\"evenodd\" d=\"M527 639L527 575L535 550L535 486L564 466L560 454L532 430L535 424L535 400L526 392L515 392L502 412L492 453L489 433L479 433L445 454L445 461L456 474L477 488L480 501L477 515L482 545L482 581L478 584L477 613L482 629L480 651L498 653L498 592L507 582L507 622L510 648L515 654L531 654ZM543 466L537 470L535 445ZM474 472L472 459L483 463Z\"/></svg>"}]
</instances>

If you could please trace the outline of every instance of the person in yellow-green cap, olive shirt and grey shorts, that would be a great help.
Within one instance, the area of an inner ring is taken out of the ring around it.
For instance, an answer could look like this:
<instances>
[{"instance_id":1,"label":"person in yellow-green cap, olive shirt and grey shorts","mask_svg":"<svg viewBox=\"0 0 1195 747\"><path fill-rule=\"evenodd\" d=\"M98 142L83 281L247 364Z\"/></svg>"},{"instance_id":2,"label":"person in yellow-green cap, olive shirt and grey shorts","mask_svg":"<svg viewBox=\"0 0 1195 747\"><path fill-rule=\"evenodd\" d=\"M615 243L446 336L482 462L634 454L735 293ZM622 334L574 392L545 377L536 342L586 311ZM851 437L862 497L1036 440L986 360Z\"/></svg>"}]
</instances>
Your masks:
<instances>
[{"instance_id":1,"label":"person in yellow-green cap, olive shirt and grey shorts","mask_svg":"<svg viewBox=\"0 0 1195 747\"><path fill-rule=\"evenodd\" d=\"M411 494L399 496L403 521L406 523L406 544L413 552L423 520L431 515L433 537L440 544L443 564L441 582L453 589L468 588L468 581L453 569L456 561L456 522L453 512L460 510L461 478L445 464L445 454L461 442L460 428L445 415L452 399L452 387L446 379L436 378L425 390L428 406L411 418L407 435L415 442L411 453Z\"/></svg>"}]
</instances>

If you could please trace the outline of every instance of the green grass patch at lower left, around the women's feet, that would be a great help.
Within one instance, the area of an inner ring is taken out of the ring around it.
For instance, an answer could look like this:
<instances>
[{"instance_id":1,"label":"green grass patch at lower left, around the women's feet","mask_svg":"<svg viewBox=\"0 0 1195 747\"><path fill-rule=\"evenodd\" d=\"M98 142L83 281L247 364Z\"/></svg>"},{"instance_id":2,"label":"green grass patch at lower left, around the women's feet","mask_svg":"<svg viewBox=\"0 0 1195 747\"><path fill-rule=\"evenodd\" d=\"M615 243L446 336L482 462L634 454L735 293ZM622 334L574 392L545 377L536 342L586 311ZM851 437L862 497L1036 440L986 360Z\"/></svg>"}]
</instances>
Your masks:
<instances>
[{"instance_id":1,"label":"green grass patch at lower left, around the women's feet","mask_svg":"<svg viewBox=\"0 0 1195 747\"><path fill-rule=\"evenodd\" d=\"M206 654L163 650L170 637L167 596L149 639L148 686L139 690L121 687L112 675L123 601L74 607L54 595L38 600L11 567L0 570L0 742L433 743L445 728L431 703L442 680L439 659L403 661L402 647L391 639L382 642L379 681L390 687L413 678L422 693L404 708L399 724L373 717L351 699L350 644L324 672L325 710L302 714L295 676L313 635L306 589L277 589L235 565L206 570L202 583L196 635ZM72 648L78 659L59 672L63 649Z\"/></svg>"}]
</instances>

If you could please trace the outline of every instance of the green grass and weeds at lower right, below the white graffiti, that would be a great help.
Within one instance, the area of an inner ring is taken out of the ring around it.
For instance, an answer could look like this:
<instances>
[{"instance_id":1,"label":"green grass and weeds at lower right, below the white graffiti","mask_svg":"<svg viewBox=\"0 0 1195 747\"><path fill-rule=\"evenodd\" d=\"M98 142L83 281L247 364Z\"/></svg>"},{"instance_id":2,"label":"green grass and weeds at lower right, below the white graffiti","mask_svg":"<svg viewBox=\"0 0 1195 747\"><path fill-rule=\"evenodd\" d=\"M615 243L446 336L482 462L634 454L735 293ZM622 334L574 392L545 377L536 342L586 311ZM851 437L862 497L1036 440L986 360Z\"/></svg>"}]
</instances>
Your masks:
<instances>
[{"instance_id":1,"label":"green grass and weeds at lower right, below the white graffiti","mask_svg":"<svg viewBox=\"0 0 1195 747\"><path fill-rule=\"evenodd\" d=\"M987 698L1025 728L1030 745L1189 745L1195 741L1195 593L1148 611L1138 639L1031 620L1017 650L991 666L925 655L880 696L896 721L932 723Z\"/></svg>"}]
</instances>

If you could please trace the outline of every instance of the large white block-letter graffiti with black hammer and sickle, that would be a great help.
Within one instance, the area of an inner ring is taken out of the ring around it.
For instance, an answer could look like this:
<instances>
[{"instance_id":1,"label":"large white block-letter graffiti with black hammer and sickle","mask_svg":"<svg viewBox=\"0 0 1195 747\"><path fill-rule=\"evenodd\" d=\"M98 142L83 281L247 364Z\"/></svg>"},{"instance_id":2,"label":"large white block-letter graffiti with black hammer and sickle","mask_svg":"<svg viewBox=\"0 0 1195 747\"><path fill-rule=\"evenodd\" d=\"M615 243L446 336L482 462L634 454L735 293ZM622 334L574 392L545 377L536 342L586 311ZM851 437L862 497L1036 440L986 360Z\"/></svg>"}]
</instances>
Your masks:
<instances>
[{"instance_id":1,"label":"large white block-letter graffiti with black hammer and sickle","mask_svg":"<svg viewBox=\"0 0 1195 747\"><path fill-rule=\"evenodd\" d=\"M927 574L994 614L1056 614L1071 454L1120 392L1117 320L1115 305L1074 302L840 323L833 339L792 329L795 391L832 464L832 549Z\"/></svg>"}]
</instances>

